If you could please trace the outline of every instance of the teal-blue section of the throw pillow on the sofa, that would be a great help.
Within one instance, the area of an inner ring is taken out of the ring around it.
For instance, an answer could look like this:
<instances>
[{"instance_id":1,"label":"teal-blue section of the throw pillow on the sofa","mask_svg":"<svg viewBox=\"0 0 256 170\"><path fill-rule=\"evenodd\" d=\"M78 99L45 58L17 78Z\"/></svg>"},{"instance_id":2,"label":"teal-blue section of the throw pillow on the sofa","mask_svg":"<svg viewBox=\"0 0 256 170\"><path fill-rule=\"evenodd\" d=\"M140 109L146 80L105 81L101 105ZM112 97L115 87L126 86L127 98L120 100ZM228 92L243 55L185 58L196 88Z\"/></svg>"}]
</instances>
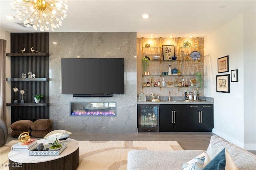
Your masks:
<instances>
[{"instance_id":1,"label":"teal-blue section of the throw pillow on the sofa","mask_svg":"<svg viewBox=\"0 0 256 170\"><path fill-rule=\"evenodd\" d=\"M209 162L203 170L225 170L226 154L225 148Z\"/></svg>"}]
</instances>

